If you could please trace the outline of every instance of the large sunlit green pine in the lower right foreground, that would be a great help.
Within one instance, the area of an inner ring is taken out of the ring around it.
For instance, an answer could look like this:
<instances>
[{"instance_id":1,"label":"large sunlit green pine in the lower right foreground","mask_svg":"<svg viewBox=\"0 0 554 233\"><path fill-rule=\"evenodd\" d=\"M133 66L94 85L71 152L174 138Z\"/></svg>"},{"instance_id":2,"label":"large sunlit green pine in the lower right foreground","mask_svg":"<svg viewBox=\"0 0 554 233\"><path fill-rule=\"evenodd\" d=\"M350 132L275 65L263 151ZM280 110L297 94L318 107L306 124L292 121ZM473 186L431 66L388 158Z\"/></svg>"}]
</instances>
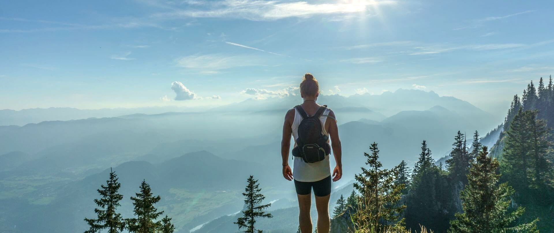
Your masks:
<instances>
[{"instance_id":1,"label":"large sunlit green pine in the lower right foreground","mask_svg":"<svg viewBox=\"0 0 554 233\"><path fill-rule=\"evenodd\" d=\"M525 209L509 212L510 196L514 190L506 183L498 184L500 175L496 159L488 157L488 148L482 147L475 162L471 163L468 184L461 191L463 213L456 213L450 221L449 233L501 233L538 232L536 221L511 227Z\"/></svg>"}]
</instances>

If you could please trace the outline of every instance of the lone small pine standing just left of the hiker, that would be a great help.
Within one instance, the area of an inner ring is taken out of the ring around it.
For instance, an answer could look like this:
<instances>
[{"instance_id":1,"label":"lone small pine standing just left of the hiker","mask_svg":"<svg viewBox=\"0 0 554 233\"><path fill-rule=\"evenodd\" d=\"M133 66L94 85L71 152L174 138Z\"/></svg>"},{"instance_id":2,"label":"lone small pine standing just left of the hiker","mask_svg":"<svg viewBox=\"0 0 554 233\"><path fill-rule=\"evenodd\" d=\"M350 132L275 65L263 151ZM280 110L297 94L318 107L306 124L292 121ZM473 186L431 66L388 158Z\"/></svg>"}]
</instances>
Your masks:
<instances>
[{"instance_id":1,"label":"lone small pine standing just left of the hiker","mask_svg":"<svg viewBox=\"0 0 554 233\"><path fill-rule=\"evenodd\" d=\"M265 196L260 194L261 189L259 186L258 180L255 180L254 176L250 175L248 184L243 193L244 203L246 204L246 210L243 211L244 216L238 218L237 222L233 222L239 226L239 230L244 227L244 232L246 233L263 232L262 230L255 229L254 224L256 223L256 218L273 218L271 214L265 213L264 211L269 208L271 204L260 205L265 199Z\"/></svg>"}]
</instances>

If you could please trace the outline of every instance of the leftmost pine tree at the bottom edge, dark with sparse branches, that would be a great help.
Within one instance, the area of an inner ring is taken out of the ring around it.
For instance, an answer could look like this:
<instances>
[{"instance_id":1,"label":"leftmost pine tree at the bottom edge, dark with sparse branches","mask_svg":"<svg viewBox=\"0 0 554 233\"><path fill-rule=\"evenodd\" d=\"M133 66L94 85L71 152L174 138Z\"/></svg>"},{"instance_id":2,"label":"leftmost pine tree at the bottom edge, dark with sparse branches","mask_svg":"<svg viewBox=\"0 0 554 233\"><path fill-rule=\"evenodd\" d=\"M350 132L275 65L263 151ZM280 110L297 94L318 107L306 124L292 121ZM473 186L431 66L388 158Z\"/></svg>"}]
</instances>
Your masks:
<instances>
[{"instance_id":1,"label":"leftmost pine tree at the bottom edge, dark with sparse branches","mask_svg":"<svg viewBox=\"0 0 554 233\"><path fill-rule=\"evenodd\" d=\"M117 182L119 178L110 168L110 179L106 180L106 185L100 185L98 193L102 196L100 199L94 199L94 203L101 209L94 209L97 219L87 219L86 223L90 226L85 233L95 233L107 229L108 233L117 233L123 231L125 220L121 218L120 213L116 213L117 207L121 206L119 201L123 199L123 195L119 194L121 184Z\"/></svg>"}]
</instances>

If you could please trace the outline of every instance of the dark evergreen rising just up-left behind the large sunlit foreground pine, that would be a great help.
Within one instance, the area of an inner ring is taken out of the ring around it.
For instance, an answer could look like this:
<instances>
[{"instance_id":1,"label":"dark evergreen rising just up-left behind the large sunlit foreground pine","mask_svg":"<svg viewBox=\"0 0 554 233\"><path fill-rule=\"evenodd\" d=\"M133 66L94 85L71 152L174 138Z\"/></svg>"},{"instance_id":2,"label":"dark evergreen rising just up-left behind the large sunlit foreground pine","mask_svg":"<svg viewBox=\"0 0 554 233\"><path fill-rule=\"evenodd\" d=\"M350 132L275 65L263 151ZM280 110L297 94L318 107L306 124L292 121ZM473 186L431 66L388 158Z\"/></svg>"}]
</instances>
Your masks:
<instances>
[{"instance_id":1,"label":"dark evergreen rising just up-left behind the large sunlit foreground pine","mask_svg":"<svg viewBox=\"0 0 554 233\"><path fill-rule=\"evenodd\" d=\"M468 174L470 161L465 143L465 135L458 131L458 134L454 137L452 146L454 147L450 152L450 158L446 161L449 176L454 184L461 182L461 184L465 185L468 183L466 175Z\"/></svg>"}]
</instances>

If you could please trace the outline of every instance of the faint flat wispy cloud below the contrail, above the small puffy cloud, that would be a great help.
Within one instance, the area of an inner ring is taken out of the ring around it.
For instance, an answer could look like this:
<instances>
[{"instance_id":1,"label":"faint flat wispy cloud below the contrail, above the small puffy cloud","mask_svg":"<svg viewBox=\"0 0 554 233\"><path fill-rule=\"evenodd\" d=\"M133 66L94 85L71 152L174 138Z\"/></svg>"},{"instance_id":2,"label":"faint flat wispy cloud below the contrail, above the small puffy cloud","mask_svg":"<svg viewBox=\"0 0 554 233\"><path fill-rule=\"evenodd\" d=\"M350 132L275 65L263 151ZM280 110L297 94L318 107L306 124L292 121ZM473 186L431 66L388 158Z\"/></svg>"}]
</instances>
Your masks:
<instances>
[{"instance_id":1,"label":"faint flat wispy cloud below the contrail, above the small puffy cloud","mask_svg":"<svg viewBox=\"0 0 554 233\"><path fill-rule=\"evenodd\" d=\"M214 70L229 69L240 66L260 65L260 59L245 55L223 55L223 54L196 54L184 56L176 61L177 66L190 69L202 69L213 72Z\"/></svg>"}]
</instances>

